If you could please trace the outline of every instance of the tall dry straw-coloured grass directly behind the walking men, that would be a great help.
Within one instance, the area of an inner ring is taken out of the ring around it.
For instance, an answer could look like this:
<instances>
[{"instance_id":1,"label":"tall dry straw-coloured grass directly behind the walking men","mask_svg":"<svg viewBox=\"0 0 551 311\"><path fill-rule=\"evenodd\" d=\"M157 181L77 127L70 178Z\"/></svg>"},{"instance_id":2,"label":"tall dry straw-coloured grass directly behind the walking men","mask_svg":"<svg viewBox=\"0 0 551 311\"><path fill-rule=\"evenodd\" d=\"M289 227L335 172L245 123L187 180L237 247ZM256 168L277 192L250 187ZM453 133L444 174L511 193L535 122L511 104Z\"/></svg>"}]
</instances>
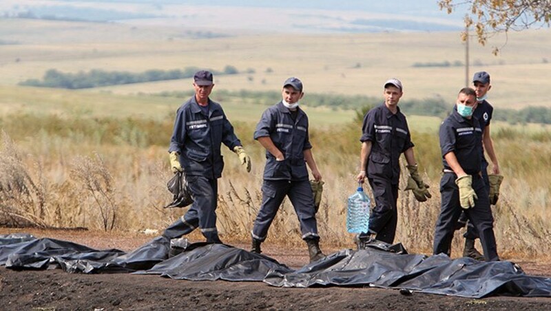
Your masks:
<instances>
[{"instance_id":1,"label":"tall dry straw-coloured grass directly behind the walking men","mask_svg":"<svg viewBox=\"0 0 551 311\"><path fill-rule=\"evenodd\" d=\"M161 207L171 201L166 188L171 177L166 147L152 144L151 139L140 144L121 139L129 130L114 126L116 119L103 121L111 130L100 136L93 126L61 131L65 129L64 122L74 122L70 119L56 119L58 130L39 131L34 136L14 132L16 142L3 134L0 146L3 223L135 233L147 228L163 230L185 213L185 208ZM3 126L17 131L31 126L25 122L36 120L14 115L4 120ZM12 127L12 123L19 126ZM143 127L144 137L158 133L161 126L156 122L148 126L139 120L121 124ZM219 180L218 228L222 239L232 243L249 240L261 202L265 161L260 144L251 139L253 125L238 125L237 134L253 160L253 168L246 173L235 154L222 147L226 167ZM357 186L354 175L360 150L359 131L360 126L353 124L339 129L312 129L313 153L326 181L317 217L322 244L327 247L353 247L352 235L346 232L345 216L346 198ZM531 140L520 131L512 131L506 137L495 137L501 170L506 176L499 203L493 208L498 250L504 258L544 256L551 250L548 172L541 169L551 165L551 147L539 142L541 135ZM435 133L413 133L413 139L433 198L419 204L410 193L400 191L396 241L411 252L430 254L439 213L441 160ZM371 189L365 190L370 193ZM202 239L200 233L193 233L191 238ZM289 246L303 243L298 219L287 200L270 228L267 243ZM461 235L456 233L453 255L459 255L462 244Z\"/></svg>"}]
</instances>

